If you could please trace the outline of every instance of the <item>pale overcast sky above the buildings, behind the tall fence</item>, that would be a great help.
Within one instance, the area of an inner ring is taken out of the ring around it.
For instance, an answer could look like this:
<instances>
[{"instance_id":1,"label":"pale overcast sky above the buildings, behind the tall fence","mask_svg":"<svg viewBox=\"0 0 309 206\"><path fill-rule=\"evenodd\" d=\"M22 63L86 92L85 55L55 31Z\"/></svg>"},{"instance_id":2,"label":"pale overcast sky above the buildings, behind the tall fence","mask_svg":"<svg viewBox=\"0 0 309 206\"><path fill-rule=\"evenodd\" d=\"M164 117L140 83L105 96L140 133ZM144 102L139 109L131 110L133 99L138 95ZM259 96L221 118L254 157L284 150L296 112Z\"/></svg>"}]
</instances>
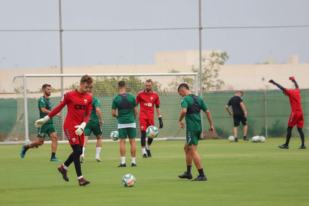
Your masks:
<instances>
[{"instance_id":1,"label":"pale overcast sky above the buildings, behind the tall fence","mask_svg":"<svg viewBox=\"0 0 309 206\"><path fill-rule=\"evenodd\" d=\"M148 65L155 52L198 50L198 0L62 0L63 63ZM307 0L202 0L202 49L226 64L309 62ZM191 28L147 31L67 31ZM58 0L0 0L0 69L60 67Z\"/></svg>"}]
</instances>

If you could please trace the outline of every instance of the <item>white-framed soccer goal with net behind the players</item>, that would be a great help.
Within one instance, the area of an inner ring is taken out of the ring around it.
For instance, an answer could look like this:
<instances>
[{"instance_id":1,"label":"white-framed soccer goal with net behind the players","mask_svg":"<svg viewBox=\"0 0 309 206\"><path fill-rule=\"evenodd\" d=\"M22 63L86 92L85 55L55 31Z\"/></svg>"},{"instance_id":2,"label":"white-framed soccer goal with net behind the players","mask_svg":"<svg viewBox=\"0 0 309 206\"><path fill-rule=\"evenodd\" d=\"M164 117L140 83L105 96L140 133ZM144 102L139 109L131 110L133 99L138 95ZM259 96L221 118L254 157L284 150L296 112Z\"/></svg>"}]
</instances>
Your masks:
<instances>
[{"instance_id":1,"label":"white-framed soccer goal with net behind the players","mask_svg":"<svg viewBox=\"0 0 309 206\"><path fill-rule=\"evenodd\" d=\"M37 139L37 128L34 126L39 119L38 100L43 96L42 85L49 84L52 87L50 100L52 109L56 107L66 91L77 89L80 78L84 74L25 74L14 78L14 87L20 94L17 99L17 120L5 142L21 143L25 140ZM128 93L136 97L138 92L145 89L147 79L153 81L153 91L159 94L160 108L163 118L163 128L159 131L158 138L185 137L185 131L179 128L178 118L181 110L181 96L177 88L181 83L187 83L190 90L198 93L197 73L163 73L163 74L89 74L94 78L93 96L99 99L100 109L104 125L102 126L102 139L110 138L110 133L117 130L117 120L111 116L112 99L119 94L117 84L123 80L126 82ZM138 115L140 106L138 105ZM61 118L53 117L57 130L58 140L66 140L63 133L63 122L67 113L67 107L61 111ZM155 125L159 127L158 115L155 111ZM139 119L136 120L137 138L140 138ZM95 139L91 134L89 139ZM46 136L46 141L50 138Z\"/></svg>"}]
</instances>

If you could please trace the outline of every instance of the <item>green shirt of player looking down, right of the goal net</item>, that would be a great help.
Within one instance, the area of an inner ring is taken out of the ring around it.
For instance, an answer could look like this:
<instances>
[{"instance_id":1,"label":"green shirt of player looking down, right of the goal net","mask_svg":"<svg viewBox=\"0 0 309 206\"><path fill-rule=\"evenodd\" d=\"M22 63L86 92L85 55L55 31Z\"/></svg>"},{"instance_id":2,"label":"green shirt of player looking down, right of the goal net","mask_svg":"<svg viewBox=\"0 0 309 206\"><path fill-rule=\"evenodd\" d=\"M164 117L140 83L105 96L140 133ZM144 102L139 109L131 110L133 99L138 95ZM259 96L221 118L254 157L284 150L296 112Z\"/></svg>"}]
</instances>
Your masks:
<instances>
[{"instance_id":1,"label":"green shirt of player looking down, right of the goal net","mask_svg":"<svg viewBox=\"0 0 309 206\"><path fill-rule=\"evenodd\" d=\"M187 95L181 99L181 107L182 108L192 108L194 104L194 100L191 96L194 96L193 94ZM204 100L199 97L197 97L198 104L201 107L201 110L204 112L208 110ZM186 114L185 116L186 120L186 128L187 131L202 131L202 123L201 123L201 116L200 114Z\"/></svg>"}]
</instances>

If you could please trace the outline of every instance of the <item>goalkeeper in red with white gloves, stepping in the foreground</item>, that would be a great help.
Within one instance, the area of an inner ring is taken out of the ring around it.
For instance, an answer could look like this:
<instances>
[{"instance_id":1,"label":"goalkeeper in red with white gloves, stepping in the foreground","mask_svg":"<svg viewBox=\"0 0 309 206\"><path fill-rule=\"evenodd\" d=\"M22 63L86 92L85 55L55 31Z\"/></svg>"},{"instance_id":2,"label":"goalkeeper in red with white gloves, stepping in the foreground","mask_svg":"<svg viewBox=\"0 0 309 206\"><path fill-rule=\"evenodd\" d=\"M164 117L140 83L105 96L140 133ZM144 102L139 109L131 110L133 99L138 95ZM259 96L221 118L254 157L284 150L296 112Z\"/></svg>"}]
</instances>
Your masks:
<instances>
[{"instance_id":1,"label":"goalkeeper in red with white gloves, stepping in the foreground","mask_svg":"<svg viewBox=\"0 0 309 206\"><path fill-rule=\"evenodd\" d=\"M67 169L70 164L74 162L78 184L80 186L85 186L90 183L83 178L79 157L82 154L84 145L83 130L89 121L92 108L92 96L88 93L92 83L92 77L84 75L80 80L79 88L66 92L66 94L63 95L60 104L47 116L37 120L35 124L37 128L41 127L67 105L68 113L63 124L63 129L73 152L70 154L66 162L58 167L58 170L62 174L63 179L69 181ZM85 112L86 115L84 117Z\"/></svg>"}]
</instances>

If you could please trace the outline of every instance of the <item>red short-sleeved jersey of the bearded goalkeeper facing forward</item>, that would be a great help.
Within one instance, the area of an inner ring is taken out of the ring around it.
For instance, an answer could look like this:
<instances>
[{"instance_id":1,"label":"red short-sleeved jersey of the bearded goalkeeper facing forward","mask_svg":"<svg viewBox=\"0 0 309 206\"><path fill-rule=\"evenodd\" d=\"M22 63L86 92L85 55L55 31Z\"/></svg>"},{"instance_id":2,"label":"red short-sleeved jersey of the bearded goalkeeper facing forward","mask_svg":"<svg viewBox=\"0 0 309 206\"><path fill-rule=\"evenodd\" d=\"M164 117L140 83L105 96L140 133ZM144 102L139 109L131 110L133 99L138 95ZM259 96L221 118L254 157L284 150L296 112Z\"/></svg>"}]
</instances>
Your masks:
<instances>
[{"instance_id":1,"label":"red short-sleeved jersey of the bearded goalkeeper facing forward","mask_svg":"<svg viewBox=\"0 0 309 206\"><path fill-rule=\"evenodd\" d=\"M139 118L154 119L155 105L160 104L159 95L154 91L148 94L145 90L138 92L136 96L136 103L140 104Z\"/></svg>"}]
</instances>

